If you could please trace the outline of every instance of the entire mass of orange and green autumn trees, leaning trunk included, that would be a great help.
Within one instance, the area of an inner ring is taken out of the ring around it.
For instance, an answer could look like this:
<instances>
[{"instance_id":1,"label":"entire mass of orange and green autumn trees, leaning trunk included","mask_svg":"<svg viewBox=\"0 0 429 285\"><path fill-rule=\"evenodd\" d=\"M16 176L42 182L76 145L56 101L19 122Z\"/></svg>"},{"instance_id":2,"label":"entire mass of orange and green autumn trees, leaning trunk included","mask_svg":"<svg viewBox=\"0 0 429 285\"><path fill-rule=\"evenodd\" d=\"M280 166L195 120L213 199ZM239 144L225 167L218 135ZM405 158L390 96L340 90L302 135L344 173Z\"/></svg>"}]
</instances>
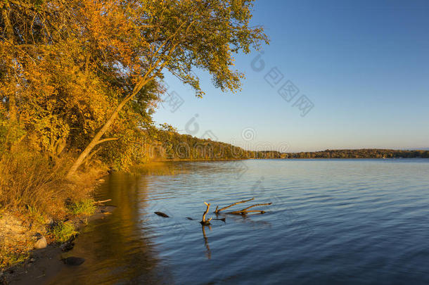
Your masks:
<instances>
[{"instance_id":1,"label":"entire mass of orange and green autumn trees, leaning trunk included","mask_svg":"<svg viewBox=\"0 0 429 285\"><path fill-rule=\"evenodd\" d=\"M76 153L69 176L103 144L126 155L152 124L164 72L198 97L195 69L236 91L233 55L268 43L250 25L248 0L10 0L0 9L1 126L52 156Z\"/></svg>"}]
</instances>

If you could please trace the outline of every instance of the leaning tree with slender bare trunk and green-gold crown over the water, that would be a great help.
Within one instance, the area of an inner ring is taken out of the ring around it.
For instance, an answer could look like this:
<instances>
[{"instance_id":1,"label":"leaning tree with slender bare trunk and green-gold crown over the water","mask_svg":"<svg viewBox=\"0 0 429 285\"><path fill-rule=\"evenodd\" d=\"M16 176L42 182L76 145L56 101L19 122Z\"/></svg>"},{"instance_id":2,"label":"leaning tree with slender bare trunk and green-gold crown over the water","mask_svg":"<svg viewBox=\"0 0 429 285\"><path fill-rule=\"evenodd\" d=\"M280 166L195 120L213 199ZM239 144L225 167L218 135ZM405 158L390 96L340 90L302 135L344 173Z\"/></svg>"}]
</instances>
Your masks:
<instances>
[{"instance_id":1,"label":"leaning tree with slender bare trunk and green-gold crown over the water","mask_svg":"<svg viewBox=\"0 0 429 285\"><path fill-rule=\"evenodd\" d=\"M132 89L98 130L72 165L72 176L92 149L114 138L103 135L120 111L141 89L162 77L164 69L203 96L200 82L191 70L210 72L215 86L235 91L243 75L232 70L233 53L258 47L267 39L261 27L250 27L252 1L126 1L103 4L83 1L81 13L89 19L88 33L102 39L101 51L116 53L117 72L125 72ZM96 25L103 23L104 25ZM107 24L107 25L106 25ZM120 70L120 71L119 71Z\"/></svg>"}]
</instances>

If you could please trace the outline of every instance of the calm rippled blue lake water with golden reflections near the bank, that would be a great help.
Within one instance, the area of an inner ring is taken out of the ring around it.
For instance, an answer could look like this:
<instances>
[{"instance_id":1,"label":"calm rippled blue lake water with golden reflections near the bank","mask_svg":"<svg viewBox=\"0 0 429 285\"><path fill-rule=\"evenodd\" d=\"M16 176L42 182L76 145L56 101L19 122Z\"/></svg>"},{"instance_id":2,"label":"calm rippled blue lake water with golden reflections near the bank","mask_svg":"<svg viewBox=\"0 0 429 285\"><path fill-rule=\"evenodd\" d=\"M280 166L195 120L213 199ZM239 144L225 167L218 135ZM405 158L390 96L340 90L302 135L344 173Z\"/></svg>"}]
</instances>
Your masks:
<instances>
[{"instance_id":1,"label":"calm rippled blue lake water with golden reflections near the bank","mask_svg":"<svg viewBox=\"0 0 429 285\"><path fill-rule=\"evenodd\" d=\"M68 253L87 261L51 284L429 284L429 160L188 162L158 172L106 179L98 196L117 210ZM235 208L273 205L199 224L204 201L214 216L216 205L252 197Z\"/></svg>"}]
</instances>

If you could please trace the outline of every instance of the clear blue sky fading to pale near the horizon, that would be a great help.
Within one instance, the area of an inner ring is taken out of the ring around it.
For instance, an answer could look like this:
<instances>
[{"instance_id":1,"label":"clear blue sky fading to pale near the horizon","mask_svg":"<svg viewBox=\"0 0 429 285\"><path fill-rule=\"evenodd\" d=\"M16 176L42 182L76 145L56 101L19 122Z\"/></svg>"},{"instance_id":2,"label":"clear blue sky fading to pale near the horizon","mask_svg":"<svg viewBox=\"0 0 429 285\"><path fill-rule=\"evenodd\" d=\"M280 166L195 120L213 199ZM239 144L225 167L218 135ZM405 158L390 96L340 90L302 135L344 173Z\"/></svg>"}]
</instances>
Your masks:
<instances>
[{"instance_id":1,"label":"clear blue sky fading to pale near the horizon","mask_svg":"<svg viewBox=\"0 0 429 285\"><path fill-rule=\"evenodd\" d=\"M259 59L236 56L242 91L222 93L196 70L196 99L166 75L184 102L164 103L155 122L252 149L429 147L429 1L259 0L252 24L271 44ZM288 80L299 92L286 101Z\"/></svg>"}]
</instances>

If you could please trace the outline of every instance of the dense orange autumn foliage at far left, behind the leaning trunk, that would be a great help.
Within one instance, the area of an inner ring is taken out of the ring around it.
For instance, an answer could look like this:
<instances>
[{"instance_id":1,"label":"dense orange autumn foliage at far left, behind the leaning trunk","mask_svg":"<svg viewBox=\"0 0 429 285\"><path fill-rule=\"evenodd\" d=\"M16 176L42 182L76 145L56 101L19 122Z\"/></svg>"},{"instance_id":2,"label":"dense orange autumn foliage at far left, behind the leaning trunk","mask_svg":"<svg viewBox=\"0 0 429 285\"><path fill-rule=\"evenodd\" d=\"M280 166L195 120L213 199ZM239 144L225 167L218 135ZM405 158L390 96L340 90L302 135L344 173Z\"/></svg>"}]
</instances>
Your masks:
<instances>
[{"instance_id":1,"label":"dense orange autumn foliage at far left, behind the leaning trunk","mask_svg":"<svg viewBox=\"0 0 429 285\"><path fill-rule=\"evenodd\" d=\"M106 48L108 38L97 32L103 23L87 17L94 9L82 1L0 3L0 127L7 132L12 124L24 129L35 151L51 156L64 149L82 151L132 89L127 73L116 64L120 55ZM115 134L121 144L104 157L124 153L132 136L141 135L139 127L151 124L159 92L152 81L122 108L106 133Z\"/></svg>"}]
</instances>

